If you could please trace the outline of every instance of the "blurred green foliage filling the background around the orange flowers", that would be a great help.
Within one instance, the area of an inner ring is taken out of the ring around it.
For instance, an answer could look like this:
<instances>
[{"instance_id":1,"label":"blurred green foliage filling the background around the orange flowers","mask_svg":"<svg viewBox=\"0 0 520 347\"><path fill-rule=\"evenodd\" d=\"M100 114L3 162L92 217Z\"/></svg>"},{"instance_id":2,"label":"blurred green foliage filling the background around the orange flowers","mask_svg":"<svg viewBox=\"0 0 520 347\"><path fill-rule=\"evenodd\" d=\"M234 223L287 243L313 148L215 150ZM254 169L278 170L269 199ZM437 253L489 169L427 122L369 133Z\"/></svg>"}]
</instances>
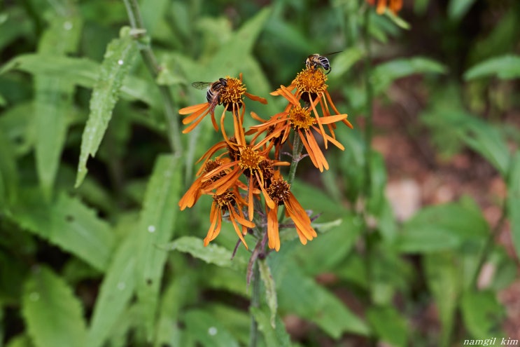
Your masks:
<instances>
[{"instance_id":1,"label":"blurred green foliage filling the background around the orange flowers","mask_svg":"<svg viewBox=\"0 0 520 347\"><path fill-rule=\"evenodd\" d=\"M503 334L496 293L517 267L495 237L509 221L520 253L520 132L504 123L520 106L520 3L409 5L396 18L361 0L143 0L139 36L122 1L0 4L0 346L243 346L251 315L260 346L453 346ZM248 312L251 253L239 247L230 260L228 224L202 246L209 200L178 211L218 133L203 122L176 144L180 116L168 112L204 102L192 81L243 73L269 101L248 110L267 118L284 107L269 92L307 55L336 51L328 83L355 129L337 129L346 149L328 151L328 172L302 161L292 188L322 212L319 236L303 246L281 234L281 250L262 260L267 296ZM409 76L428 92L414 125L436 154L471 150L506 182L497 227L468 197L397 221L363 128L372 97L390 102ZM488 263L496 271L482 289ZM435 324L414 329L432 306Z\"/></svg>"}]
</instances>

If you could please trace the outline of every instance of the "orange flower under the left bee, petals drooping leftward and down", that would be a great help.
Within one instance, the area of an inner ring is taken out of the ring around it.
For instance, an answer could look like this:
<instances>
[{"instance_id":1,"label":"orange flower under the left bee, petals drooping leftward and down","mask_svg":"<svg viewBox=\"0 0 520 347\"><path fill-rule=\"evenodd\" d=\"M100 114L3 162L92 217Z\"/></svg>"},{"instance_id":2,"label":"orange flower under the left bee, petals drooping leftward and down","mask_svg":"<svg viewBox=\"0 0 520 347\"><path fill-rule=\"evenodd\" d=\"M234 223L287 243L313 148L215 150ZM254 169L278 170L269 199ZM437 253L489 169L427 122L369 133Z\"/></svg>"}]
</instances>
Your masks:
<instances>
[{"instance_id":1,"label":"orange flower under the left bee, petals drooping leftward and down","mask_svg":"<svg viewBox=\"0 0 520 347\"><path fill-rule=\"evenodd\" d=\"M240 74L239 77L239 79L235 79L227 76L225 79L219 79L218 81L209 83L209 90L206 95L208 102L184 107L178 111L179 114L188 115L183 119L183 124L191 123L188 128L183 130L184 134L193 130L207 114L211 114L211 123L213 123L213 128L218 130L214 113L216 104L224 105L224 111L220 116L220 127L223 128L225 111L231 111L233 114L234 131L243 132L242 123L246 111L243 96L245 95L249 99L261 102L262 104L267 104L267 100L263 97L247 93L246 86L242 83L242 74Z\"/></svg>"}]
</instances>

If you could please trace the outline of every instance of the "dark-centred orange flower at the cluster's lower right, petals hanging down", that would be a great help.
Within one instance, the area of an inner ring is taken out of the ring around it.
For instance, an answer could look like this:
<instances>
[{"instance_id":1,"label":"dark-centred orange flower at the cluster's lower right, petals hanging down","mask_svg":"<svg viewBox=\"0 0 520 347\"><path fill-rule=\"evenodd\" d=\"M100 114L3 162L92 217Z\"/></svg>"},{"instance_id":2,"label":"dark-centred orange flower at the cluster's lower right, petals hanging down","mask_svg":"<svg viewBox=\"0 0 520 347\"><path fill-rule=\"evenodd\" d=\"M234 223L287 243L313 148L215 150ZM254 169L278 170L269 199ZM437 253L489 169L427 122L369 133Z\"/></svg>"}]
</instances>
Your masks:
<instances>
[{"instance_id":1,"label":"dark-centred orange flower at the cluster's lower right, petals hanging down","mask_svg":"<svg viewBox=\"0 0 520 347\"><path fill-rule=\"evenodd\" d=\"M274 207L266 205L267 210L267 238L269 248L280 250L280 237L278 225L278 207L286 206L286 217L293 220L296 232L300 237L300 242L305 245L307 240L312 240L318 234L311 226L311 219L302 205L296 200L293 193L290 192L290 184L281 178L280 172L274 174L273 182L267 187L267 193L274 201Z\"/></svg>"}]
</instances>

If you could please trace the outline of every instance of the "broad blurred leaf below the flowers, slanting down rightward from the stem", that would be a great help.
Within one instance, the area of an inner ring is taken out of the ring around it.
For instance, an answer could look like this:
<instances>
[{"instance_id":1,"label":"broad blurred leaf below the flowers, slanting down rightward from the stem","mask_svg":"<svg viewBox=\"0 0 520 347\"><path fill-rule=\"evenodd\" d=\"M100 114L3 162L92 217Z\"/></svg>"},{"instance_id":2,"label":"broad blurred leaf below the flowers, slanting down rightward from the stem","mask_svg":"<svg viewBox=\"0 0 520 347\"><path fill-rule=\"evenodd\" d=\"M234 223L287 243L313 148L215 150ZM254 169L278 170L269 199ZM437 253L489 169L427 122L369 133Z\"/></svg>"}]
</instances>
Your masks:
<instances>
[{"instance_id":1,"label":"broad blurred leaf below the flowers, slanting down rightward from the stem","mask_svg":"<svg viewBox=\"0 0 520 347\"><path fill-rule=\"evenodd\" d=\"M282 255L280 252L276 254L279 257ZM270 257L269 263L275 263L276 258ZM289 259L284 261L286 264L283 266L272 268L278 288L280 311L295 313L315 322L335 339L344 332L360 335L369 333L367 325L344 306L342 301L304 275L297 264Z\"/></svg>"}]
</instances>

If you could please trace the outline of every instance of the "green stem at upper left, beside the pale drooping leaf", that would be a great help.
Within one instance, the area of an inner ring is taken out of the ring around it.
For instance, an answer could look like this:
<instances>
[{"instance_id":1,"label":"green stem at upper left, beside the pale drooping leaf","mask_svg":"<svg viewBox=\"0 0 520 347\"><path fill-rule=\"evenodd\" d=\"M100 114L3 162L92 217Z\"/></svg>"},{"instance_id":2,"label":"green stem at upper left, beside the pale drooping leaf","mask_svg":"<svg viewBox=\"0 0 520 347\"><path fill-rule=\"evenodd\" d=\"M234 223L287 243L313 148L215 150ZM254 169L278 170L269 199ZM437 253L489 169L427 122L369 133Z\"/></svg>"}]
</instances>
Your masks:
<instances>
[{"instance_id":1,"label":"green stem at upper left, beside the pale drooping leaf","mask_svg":"<svg viewBox=\"0 0 520 347\"><path fill-rule=\"evenodd\" d=\"M146 34L146 29L143 24L143 18L141 17L141 11L139 10L139 4L137 0L123 0L127 8L128 20L130 26L134 30L134 39L139 44L139 50L141 57L146 65L148 72L152 75L153 79L157 79L160 73L161 67L157 64L157 59L153 54L153 50L150 47L150 37ZM180 155L182 152L181 132L178 125L177 112L174 110L174 100L171 97L168 86L158 86L162 101L164 104L164 116L166 118L167 129L168 129L168 140L171 151Z\"/></svg>"}]
</instances>

